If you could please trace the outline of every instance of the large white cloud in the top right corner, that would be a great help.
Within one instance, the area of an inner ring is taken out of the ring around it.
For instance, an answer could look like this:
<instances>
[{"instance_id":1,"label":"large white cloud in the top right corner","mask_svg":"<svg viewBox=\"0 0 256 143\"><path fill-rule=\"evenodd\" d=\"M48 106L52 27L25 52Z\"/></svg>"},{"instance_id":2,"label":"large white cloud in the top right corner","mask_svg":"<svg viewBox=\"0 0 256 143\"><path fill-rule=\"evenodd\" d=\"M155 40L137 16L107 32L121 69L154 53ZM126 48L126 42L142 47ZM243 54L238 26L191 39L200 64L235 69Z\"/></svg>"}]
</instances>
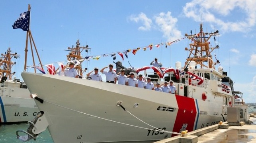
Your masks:
<instances>
[{"instance_id":1,"label":"large white cloud in the top right corner","mask_svg":"<svg viewBox=\"0 0 256 143\"><path fill-rule=\"evenodd\" d=\"M214 15L228 17L234 10L246 13L247 17L237 17L236 21L226 21ZM191 17L195 21L202 20L218 25L224 32L245 32L256 24L256 0L193 0L186 3L183 12L186 17Z\"/></svg>"}]
</instances>

